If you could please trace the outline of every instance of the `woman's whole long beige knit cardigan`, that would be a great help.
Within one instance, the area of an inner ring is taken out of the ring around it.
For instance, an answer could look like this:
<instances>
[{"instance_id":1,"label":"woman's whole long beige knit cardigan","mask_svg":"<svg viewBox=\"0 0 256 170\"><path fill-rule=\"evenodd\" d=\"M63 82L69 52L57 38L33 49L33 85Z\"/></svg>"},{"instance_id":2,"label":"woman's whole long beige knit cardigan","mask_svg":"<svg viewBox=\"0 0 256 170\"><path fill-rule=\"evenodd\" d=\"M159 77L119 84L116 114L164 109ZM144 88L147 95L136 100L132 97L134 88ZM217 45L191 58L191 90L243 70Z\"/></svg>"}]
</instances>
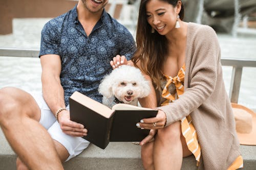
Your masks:
<instances>
[{"instance_id":1,"label":"woman's whole long beige knit cardigan","mask_svg":"<svg viewBox=\"0 0 256 170\"><path fill-rule=\"evenodd\" d=\"M199 169L227 169L241 153L212 28L188 23L185 65L184 94L159 109L166 126L190 114L201 144Z\"/></svg>"}]
</instances>

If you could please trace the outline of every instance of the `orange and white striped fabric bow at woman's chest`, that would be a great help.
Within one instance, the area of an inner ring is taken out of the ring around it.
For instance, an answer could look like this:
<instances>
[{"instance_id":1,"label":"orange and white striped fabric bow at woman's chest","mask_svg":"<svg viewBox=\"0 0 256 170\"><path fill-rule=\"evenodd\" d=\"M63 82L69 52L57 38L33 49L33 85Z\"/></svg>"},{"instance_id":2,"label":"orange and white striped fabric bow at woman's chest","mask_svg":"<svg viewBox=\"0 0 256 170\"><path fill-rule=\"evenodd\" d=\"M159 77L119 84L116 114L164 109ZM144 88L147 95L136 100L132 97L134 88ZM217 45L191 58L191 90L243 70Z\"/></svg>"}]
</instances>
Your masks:
<instances>
[{"instance_id":1,"label":"orange and white striped fabric bow at woman's chest","mask_svg":"<svg viewBox=\"0 0 256 170\"><path fill-rule=\"evenodd\" d=\"M165 75L164 75L165 76ZM174 102L176 100L175 98L175 94L172 95L169 92L169 85L171 83L174 83L175 87L176 87L176 91L177 91L177 99L179 98L179 95L182 95L184 92L184 86L183 86L183 82L184 82L184 77L185 77L185 65L183 65L181 67L181 69L178 72L178 75L174 78L170 77L170 76L165 76L167 83L164 86L163 92L162 92L162 97L166 99L166 101L164 101L162 103L162 105L167 105L170 102Z\"/></svg>"}]
</instances>

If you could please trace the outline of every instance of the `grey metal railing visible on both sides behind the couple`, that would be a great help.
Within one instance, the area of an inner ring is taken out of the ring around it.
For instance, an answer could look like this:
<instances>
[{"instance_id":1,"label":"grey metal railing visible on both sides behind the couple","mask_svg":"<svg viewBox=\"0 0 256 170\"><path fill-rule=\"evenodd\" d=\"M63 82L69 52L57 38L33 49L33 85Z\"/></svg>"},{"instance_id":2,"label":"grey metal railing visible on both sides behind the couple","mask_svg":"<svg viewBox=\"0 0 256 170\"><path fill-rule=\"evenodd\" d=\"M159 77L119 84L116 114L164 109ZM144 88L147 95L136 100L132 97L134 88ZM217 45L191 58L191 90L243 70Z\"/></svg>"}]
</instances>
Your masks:
<instances>
[{"instance_id":1,"label":"grey metal railing visible on both sides behind the couple","mask_svg":"<svg viewBox=\"0 0 256 170\"><path fill-rule=\"evenodd\" d=\"M6 57L38 57L39 50L18 49L18 48L1 48L0 56ZM232 103L238 103L239 91L243 67L256 67L255 59L231 59L222 58L223 66L232 66L232 75L229 89L229 98Z\"/></svg>"}]
</instances>

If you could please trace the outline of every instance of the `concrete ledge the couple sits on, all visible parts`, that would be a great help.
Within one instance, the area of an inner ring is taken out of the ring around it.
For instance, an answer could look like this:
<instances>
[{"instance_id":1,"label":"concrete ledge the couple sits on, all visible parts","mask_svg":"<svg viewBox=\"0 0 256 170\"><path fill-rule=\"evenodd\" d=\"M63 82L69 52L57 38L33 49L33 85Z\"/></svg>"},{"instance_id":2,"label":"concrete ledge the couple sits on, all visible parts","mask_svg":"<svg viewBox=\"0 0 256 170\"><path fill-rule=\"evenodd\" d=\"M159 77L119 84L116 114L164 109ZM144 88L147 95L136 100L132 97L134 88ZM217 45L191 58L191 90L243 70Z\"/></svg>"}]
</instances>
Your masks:
<instances>
[{"instance_id":1,"label":"concrete ledge the couple sits on, all visible parts","mask_svg":"<svg viewBox=\"0 0 256 170\"><path fill-rule=\"evenodd\" d=\"M241 145L244 158L244 169L256 169L256 146ZM40 160L38 160L40 161ZM16 169L16 155L10 148L2 130L0 130L0 170ZM143 169L140 160L140 146L131 142L111 142L105 150L91 144L77 157L63 163L65 169L97 169L97 170L139 170ZM197 169L193 156L183 159L182 169Z\"/></svg>"}]
</instances>

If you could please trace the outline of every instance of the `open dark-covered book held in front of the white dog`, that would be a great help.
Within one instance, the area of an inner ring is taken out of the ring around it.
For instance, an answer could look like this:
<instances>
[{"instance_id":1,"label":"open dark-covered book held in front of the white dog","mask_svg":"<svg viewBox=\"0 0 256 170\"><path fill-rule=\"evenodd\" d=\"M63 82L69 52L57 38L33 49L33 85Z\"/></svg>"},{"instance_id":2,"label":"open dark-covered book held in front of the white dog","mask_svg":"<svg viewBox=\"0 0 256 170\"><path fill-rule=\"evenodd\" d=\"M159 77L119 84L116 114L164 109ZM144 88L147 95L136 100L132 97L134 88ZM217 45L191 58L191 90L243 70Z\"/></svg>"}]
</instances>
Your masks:
<instances>
[{"instance_id":1,"label":"open dark-covered book held in front of the white dog","mask_svg":"<svg viewBox=\"0 0 256 170\"><path fill-rule=\"evenodd\" d=\"M110 109L77 91L70 96L69 105L70 119L88 130L83 138L101 149L110 141L141 141L150 130L140 129L136 123L157 115L157 110L127 104Z\"/></svg>"}]
</instances>

